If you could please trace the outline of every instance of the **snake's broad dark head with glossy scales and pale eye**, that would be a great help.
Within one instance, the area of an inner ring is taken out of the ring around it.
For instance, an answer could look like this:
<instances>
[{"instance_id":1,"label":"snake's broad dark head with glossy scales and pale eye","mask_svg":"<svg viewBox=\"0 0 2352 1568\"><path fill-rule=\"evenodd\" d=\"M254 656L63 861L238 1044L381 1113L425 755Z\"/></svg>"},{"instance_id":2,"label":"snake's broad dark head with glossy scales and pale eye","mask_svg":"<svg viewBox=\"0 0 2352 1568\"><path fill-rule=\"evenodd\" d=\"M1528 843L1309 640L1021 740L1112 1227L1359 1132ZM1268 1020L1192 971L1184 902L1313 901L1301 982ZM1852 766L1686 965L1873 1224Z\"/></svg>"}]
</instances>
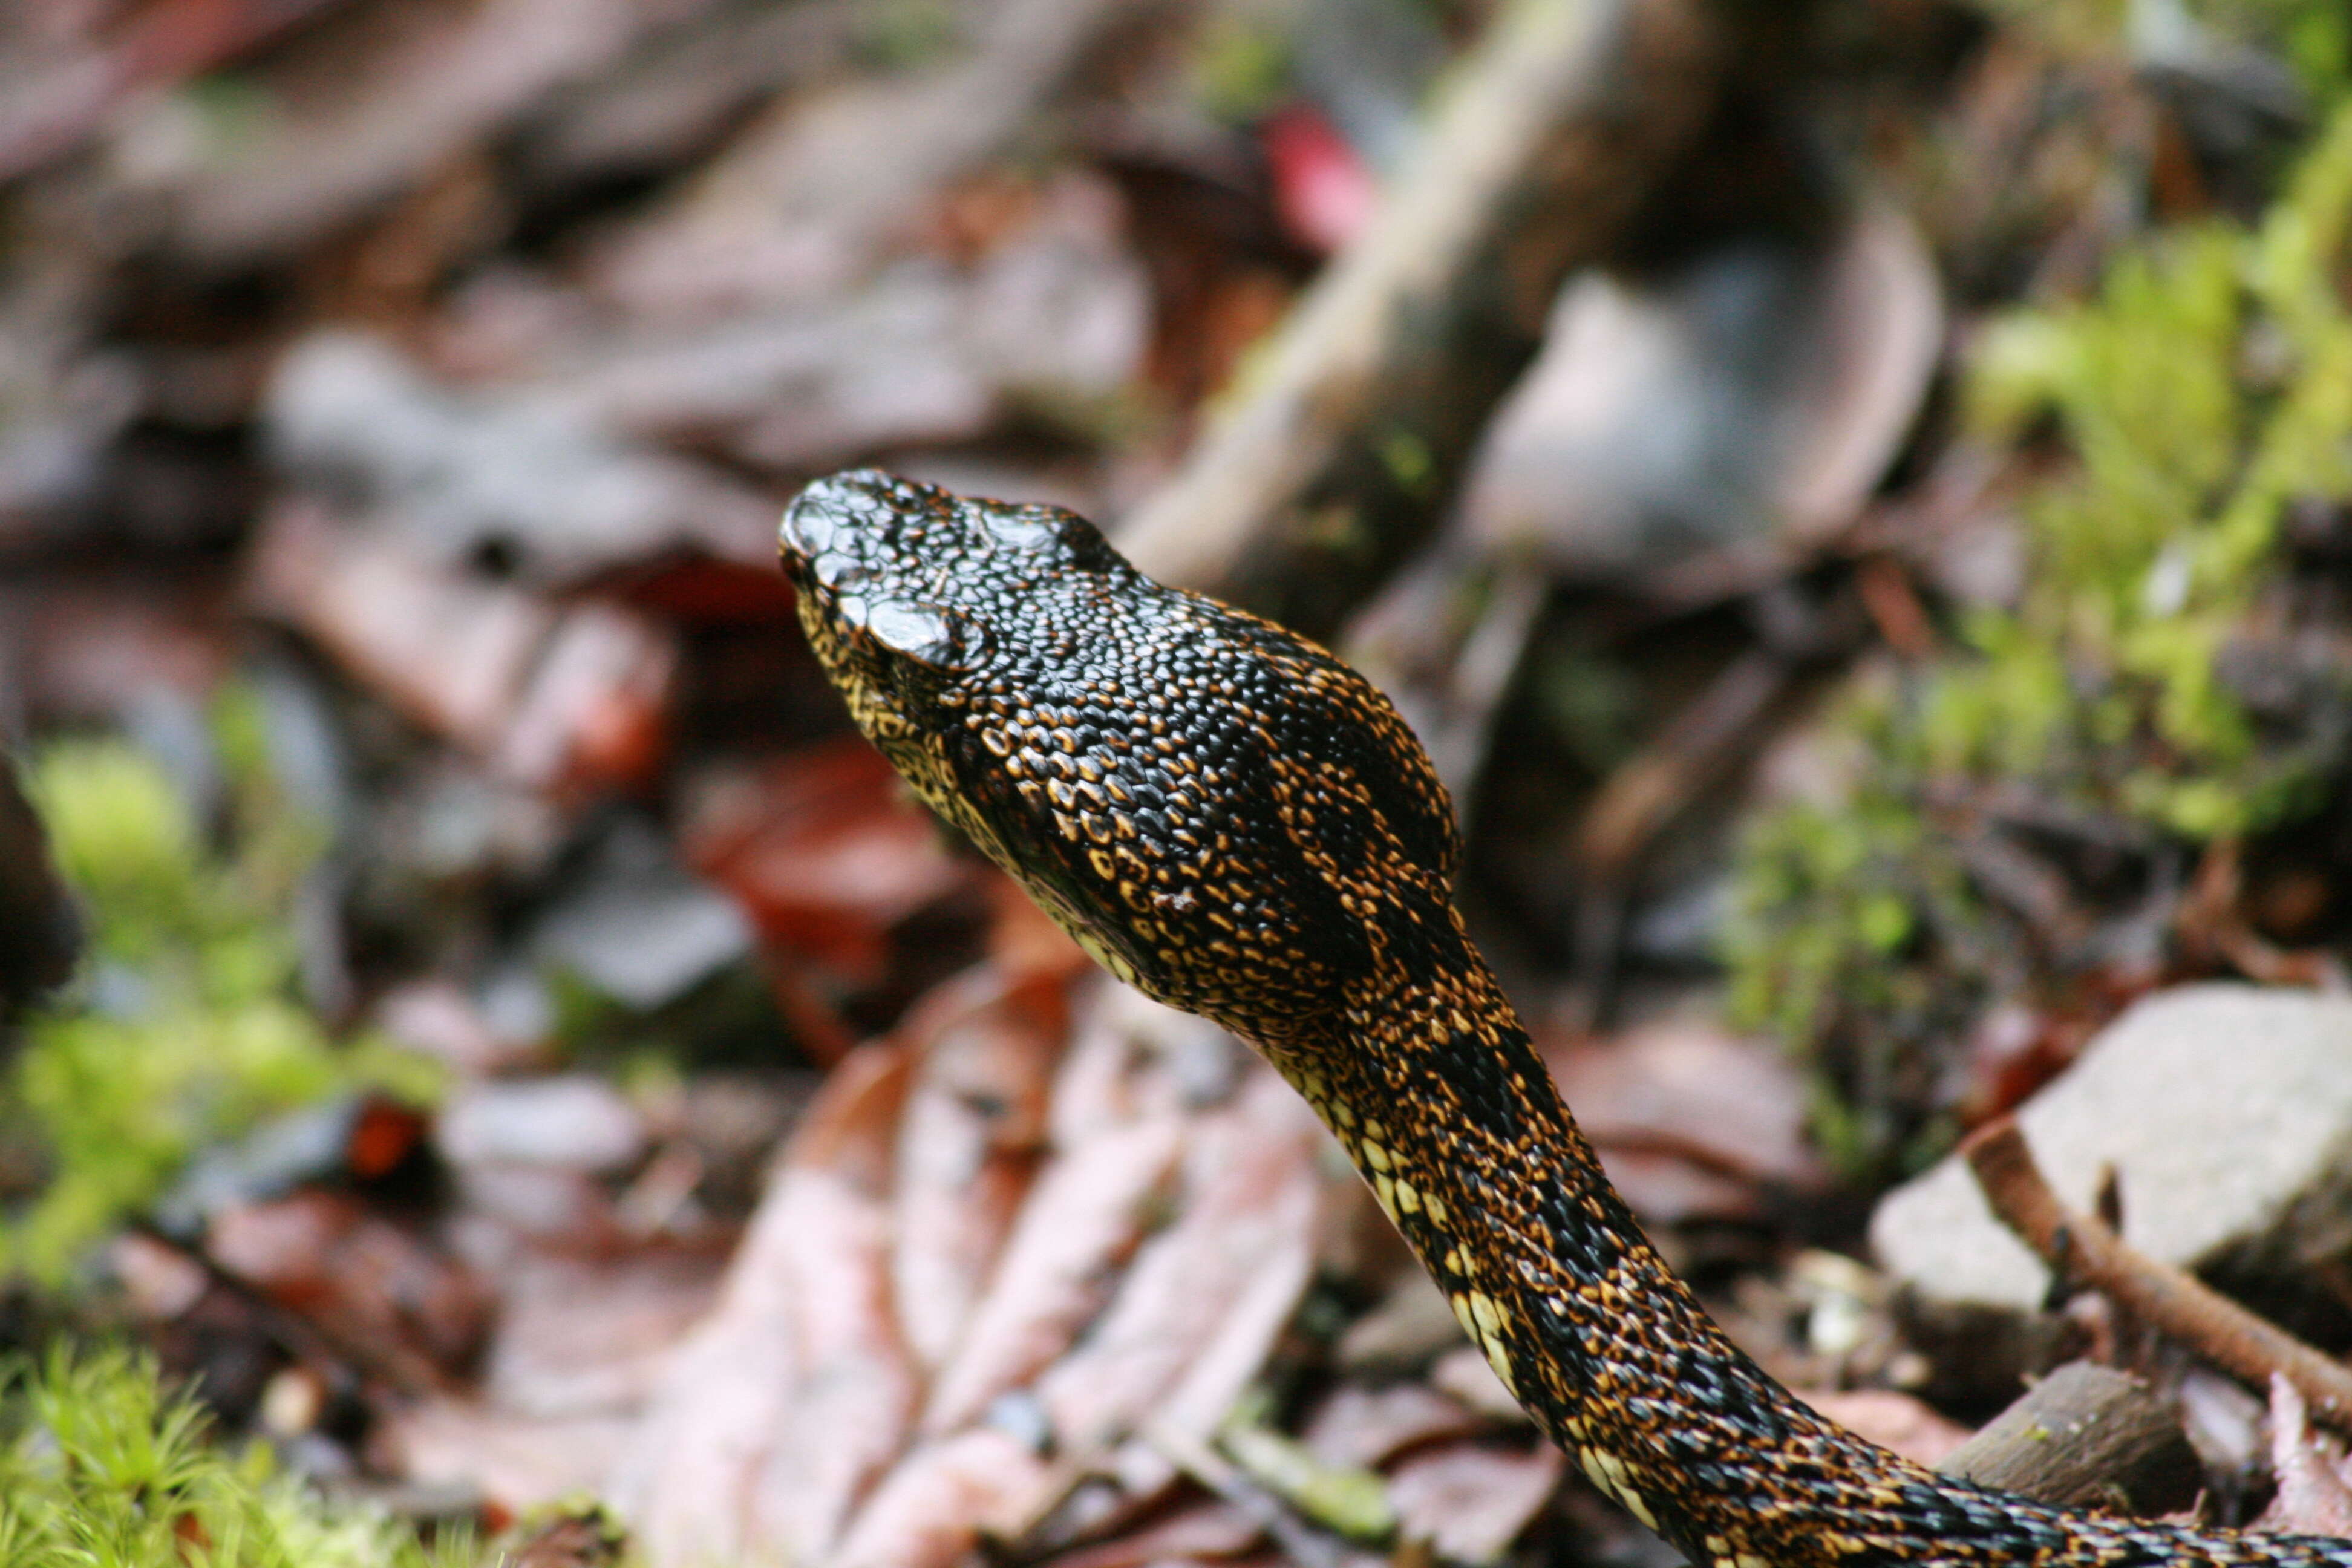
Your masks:
<instances>
[{"instance_id":1,"label":"snake's broad dark head with glossy scales and pale eye","mask_svg":"<svg viewBox=\"0 0 2352 1568\"><path fill-rule=\"evenodd\" d=\"M858 726L1160 1001L1263 1037L1451 922L1444 790L1322 649L1152 583L1061 508L856 470L781 541Z\"/></svg>"}]
</instances>

